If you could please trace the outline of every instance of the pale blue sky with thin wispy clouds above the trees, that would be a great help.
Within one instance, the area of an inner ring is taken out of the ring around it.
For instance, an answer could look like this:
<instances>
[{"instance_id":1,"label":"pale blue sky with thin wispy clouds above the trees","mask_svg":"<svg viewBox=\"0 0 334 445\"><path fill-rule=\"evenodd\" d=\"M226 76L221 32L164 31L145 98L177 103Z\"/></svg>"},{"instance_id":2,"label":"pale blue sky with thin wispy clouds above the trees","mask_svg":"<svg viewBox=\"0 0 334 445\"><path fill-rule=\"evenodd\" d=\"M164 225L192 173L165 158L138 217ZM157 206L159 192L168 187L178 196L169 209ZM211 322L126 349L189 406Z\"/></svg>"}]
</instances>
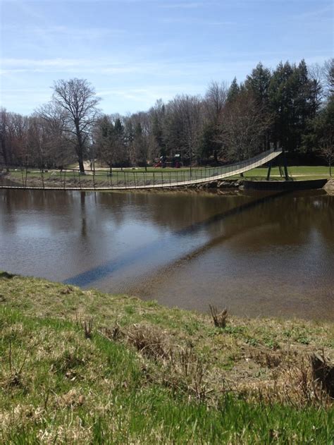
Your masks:
<instances>
[{"instance_id":1,"label":"pale blue sky with thin wispy clouds above the trees","mask_svg":"<svg viewBox=\"0 0 334 445\"><path fill-rule=\"evenodd\" d=\"M85 78L107 114L204 95L259 61L333 57L333 0L0 0L0 106L30 114Z\"/></svg>"}]
</instances>

